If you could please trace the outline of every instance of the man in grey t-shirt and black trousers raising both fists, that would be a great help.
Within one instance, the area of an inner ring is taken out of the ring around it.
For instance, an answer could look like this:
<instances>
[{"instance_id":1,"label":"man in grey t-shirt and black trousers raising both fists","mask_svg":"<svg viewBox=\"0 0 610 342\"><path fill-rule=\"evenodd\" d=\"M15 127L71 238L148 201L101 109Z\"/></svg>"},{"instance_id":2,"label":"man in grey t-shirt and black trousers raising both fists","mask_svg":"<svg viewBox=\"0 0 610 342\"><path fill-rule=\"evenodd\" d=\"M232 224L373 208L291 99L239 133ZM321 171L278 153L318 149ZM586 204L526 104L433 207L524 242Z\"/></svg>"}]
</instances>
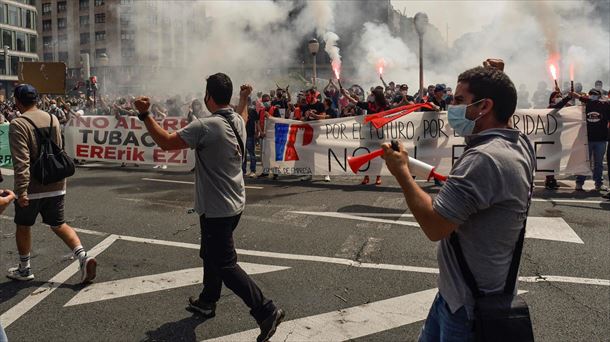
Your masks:
<instances>
[{"instance_id":1,"label":"man in grey t-shirt and black trousers raising both fists","mask_svg":"<svg viewBox=\"0 0 610 342\"><path fill-rule=\"evenodd\" d=\"M216 302L224 283L250 308L261 333L257 342L268 341L284 319L284 311L265 298L256 283L237 264L233 230L237 228L246 203L241 170L248 119L248 96L252 87L243 85L237 114L229 105L233 83L218 73L207 79L204 103L211 117L195 119L176 133L166 132L148 112L150 100L140 98L135 105L146 129L163 150L190 147L195 150L195 210L201 224L203 290L199 298L189 298L188 309L205 318L216 315Z\"/></svg>"}]
</instances>

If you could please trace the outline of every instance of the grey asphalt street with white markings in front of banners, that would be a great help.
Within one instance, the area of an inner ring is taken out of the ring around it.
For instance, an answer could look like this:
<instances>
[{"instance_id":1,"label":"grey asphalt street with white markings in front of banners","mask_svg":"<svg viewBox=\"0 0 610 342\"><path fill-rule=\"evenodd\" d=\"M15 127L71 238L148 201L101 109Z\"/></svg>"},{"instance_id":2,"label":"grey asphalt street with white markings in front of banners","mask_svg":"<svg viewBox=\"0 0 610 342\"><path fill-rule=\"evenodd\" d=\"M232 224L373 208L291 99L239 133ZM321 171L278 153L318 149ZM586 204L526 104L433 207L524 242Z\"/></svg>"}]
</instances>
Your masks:
<instances>
[{"instance_id":1,"label":"grey asphalt street with white markings in front of banners","mask_svg":"<svg viewBox=\"0 0 610 342\"><path fill-rule=\"evenodd\" d=\"M256 322L223 288L216 317L185 310L201 290L193 174L93 164L69 180L68 223L99 268L78 284L69 249L33 230L36 279L0 278L10 341L252 341ZM272 341L413 341L436 293L436 244L395 181L248 179L235 232L239 261L287 313ZM4 187L13 179L5 176ZM435 194L432 183L420 183ZM610 201L598 192L535 190L519 290L537 341L610 336ZM587 182L591 187L591 182ZM0 219L0 270L17 262L13 209Z\"/></svg>"}]
</instances>

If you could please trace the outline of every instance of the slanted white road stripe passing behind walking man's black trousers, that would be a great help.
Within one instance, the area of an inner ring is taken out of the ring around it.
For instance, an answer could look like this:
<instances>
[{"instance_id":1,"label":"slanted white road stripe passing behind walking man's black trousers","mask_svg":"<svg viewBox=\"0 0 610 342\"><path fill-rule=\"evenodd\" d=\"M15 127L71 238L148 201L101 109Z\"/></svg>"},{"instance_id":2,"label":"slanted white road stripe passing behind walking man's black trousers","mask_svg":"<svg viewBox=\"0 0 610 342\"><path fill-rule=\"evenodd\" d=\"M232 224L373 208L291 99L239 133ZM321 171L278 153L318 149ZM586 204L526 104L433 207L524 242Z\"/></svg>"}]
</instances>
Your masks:
<instances>
[{"instance_id":1,"label":"slanted white road stripe passing behind walking man's black trousers","mask_svg":"<svg viewBox=\"0 0 610 342\"><path fill-rule=\"evenodd\" d=\"M284 266L252 264L247 262L240 262L239 265L248 274L268 273L290 268ZM174 272L120 279L104 283L95 283L82 289L64 306L80 305L108 299L163 291L183 286L191 286L201 284L202 281L203 267L196 267Z\"/></svg>"}]
</instances>

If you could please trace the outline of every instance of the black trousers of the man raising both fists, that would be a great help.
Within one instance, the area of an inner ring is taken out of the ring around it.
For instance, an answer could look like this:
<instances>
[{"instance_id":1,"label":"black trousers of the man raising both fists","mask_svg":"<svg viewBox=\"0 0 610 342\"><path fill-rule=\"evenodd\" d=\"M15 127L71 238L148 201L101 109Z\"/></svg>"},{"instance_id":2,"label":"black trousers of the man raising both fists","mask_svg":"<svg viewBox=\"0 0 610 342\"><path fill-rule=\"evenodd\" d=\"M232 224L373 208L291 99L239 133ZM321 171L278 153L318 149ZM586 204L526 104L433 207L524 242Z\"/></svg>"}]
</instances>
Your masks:
<instances>
[{"instance_id":1,"label":"black trousers of the man raising both fists","mask_svg":"<svg viewBox=\"0 0 610 342\"><path fill-rule=\"evenodd\" d=\"M273 302L263 295L256 283L237 264L233 244L233 230L241 214L232 217L206 218L202 215L201 249L203 259L203 291L199 300L216 303L220 298L222 283L233 291L250 308L250 314L258 323L274 311Z\"/></svg>"}]
</instances>

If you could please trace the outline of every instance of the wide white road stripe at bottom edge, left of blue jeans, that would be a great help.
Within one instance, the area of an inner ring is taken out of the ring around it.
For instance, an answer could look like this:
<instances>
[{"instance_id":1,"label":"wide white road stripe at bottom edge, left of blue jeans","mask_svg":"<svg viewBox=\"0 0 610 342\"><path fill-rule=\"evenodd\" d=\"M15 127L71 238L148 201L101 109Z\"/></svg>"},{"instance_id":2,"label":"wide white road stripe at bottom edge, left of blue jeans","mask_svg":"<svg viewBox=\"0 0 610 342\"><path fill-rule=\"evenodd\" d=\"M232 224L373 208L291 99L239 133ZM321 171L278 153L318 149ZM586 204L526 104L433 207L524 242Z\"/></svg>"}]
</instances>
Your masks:
<instances>
[{"instance_id":1,"label":"wide white road stripe at bottom edge, left of blue jeans","mask_svg":"<svg viewBox=\"0 0 610 342\"><path fill-rule=\"evenodd\" d=\"M274 336L278 341L346 341L398 328L424 320L437 292L430 289L287 321ZM253 341L259 333L252 329L207 341Z\"/></svg>"}]
</instances>

